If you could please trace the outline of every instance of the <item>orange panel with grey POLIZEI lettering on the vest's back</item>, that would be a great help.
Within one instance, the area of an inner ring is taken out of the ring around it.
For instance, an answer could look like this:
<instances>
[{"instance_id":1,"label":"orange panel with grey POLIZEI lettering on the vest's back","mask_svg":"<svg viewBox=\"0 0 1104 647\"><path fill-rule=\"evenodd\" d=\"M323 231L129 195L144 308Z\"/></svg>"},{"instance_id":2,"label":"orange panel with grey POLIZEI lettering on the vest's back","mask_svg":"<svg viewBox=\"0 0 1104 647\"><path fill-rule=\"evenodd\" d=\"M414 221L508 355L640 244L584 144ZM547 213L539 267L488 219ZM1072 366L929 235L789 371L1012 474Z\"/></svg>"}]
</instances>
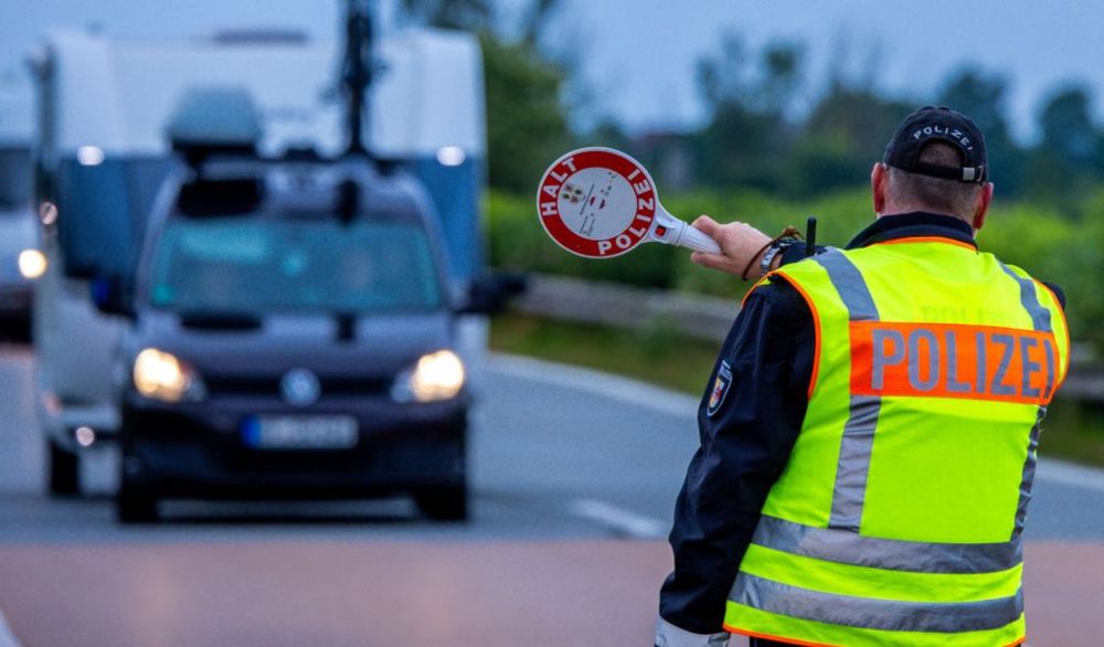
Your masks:
<instances>
[{"instance_id":1,"label":"orange panel with grey POLIZEI lettering on the vest's back","mask_svg":"<svg viewBox=\"0 0 1104 647\"><path fill-rule=\"evenodd\" d=\"M854 394L1041 404L1053 395L1051 332L884 321L850 327Z\"/></svg>"}]
</instances>

